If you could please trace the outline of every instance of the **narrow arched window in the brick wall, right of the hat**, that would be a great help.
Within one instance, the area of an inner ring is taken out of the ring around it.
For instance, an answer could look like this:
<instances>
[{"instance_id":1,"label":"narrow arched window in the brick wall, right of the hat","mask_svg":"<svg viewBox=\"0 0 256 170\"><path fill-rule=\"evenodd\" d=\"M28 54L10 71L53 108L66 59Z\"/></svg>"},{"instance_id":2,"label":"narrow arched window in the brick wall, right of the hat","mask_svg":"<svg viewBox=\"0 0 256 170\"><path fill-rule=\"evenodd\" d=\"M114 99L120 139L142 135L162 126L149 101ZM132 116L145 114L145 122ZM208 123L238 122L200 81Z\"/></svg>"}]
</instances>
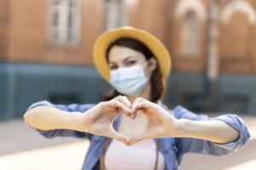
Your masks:
<instances>
[{"instance_id":1,"label":"narrow arched window in the brick wall, right of the hat","mask_svg":"<svg viewBox=\"0 0 256 170\"><path fill-rule=\"evenodd\" d=\"M200 52L200 20L194 11L189 11L183 17L182 55L197 57Z\"/></svg>"}]
</instances>

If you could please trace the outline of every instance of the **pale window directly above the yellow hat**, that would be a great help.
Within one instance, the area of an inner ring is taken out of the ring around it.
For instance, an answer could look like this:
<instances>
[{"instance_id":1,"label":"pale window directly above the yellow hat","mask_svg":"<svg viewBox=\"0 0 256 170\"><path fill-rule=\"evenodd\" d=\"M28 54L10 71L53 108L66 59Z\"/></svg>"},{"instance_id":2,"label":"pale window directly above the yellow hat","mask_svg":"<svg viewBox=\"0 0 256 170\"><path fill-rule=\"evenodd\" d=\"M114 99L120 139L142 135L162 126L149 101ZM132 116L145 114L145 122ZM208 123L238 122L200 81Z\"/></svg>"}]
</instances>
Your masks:
<instances>
[{"instance_id":1,"label":"pale window directly above the yellow hat","mask_svg":"<svg viewBox=\"0 0 256 170\"><path fill-rule=\"evenodd\" d=\"M124 0L105 0L105 30L125 26L127 20Z\"/></svg>"}]
</instances>

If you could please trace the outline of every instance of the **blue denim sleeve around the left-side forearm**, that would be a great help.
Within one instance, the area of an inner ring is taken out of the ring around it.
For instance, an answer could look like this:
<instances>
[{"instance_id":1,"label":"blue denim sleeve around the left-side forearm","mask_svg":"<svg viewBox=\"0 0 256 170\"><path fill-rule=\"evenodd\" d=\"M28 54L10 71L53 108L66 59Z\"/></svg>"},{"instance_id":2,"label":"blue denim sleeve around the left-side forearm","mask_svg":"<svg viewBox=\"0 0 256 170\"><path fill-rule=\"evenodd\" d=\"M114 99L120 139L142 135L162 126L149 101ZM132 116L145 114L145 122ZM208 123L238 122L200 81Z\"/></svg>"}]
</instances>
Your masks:
<instances>
[{"instance_id":1,"label":"blue denim sleeve around the left-side forearm","mask_svg":"<svg viewBox=\"0 0 256 170\"><path fill-rule=\"evenodd\" d=\"M47 100L43 100L43 101L38 101L38 102L33 103L32 105L30 105L28 107L27 111L31 110L32 108L38 107L40 105L48 105L48 106L51 106L51 107L55 107L56 109L60 109L61 111L71 112L71 114L72 114L73 111L84 112L84 111L89 110L91 107L93 107L93 104L54 105L54 104L50 103ZM30 126L26 121L24 121L24 122L25 122L26 129L38 132L47 139L51 139L51 138L54 138L54 137L57 137L57 136L61 136L61 137L69 136L69 137L87 138L87 139L91 138L90 133L84 133L84 132L79 132L79 131L69 130L69 129L41 130L41 129Z\"/></svg>"}]
</instances>

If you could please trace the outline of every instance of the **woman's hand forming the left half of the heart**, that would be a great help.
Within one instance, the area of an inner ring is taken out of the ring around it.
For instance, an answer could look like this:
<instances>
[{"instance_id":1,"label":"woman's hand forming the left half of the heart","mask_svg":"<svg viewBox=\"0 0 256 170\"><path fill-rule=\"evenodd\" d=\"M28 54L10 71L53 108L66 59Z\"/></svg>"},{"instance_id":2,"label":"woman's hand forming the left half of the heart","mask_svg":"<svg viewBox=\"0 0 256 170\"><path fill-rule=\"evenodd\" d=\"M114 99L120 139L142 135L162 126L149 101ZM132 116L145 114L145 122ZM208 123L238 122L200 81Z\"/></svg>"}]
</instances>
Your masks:
<instances>
[{"instance_id":1,"label":"woman's hand forming the left half of the heart","mask_svg":"<svg viewBox=\"0 0 256 170\"><path fill-rule=\"evenodd\" d=\"M128 139L113 129L113 122L121 112L131 116L130 109L131 103L125 96L101 102L83 114L83 128L88 133L107 136L128 144Z\"/></svg>"}]
</instances>

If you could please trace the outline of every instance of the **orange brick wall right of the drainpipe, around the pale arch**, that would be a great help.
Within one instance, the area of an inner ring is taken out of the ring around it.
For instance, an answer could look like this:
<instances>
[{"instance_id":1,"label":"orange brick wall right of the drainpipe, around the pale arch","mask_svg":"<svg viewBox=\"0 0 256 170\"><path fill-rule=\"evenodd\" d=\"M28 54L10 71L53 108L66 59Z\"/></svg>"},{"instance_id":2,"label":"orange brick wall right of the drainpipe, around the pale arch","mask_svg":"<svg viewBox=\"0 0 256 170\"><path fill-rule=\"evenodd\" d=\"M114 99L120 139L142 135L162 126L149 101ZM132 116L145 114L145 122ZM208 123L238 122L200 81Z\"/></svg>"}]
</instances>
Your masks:
<instances>
[{"instance_id":1,"label":"orange brick wall right of the drainpipe, around the pale arch","mask_svg":"<svg viewBox=\"0 0 256 170\"><path fill-rule=\"evenodd\" d=\"M256 2L245 0L256 9ZM219 1L219 11L231 0ZM255 10L256 12L256 10ZM250 25L247 15L236 12L227 25L219 22L219 65L222 73L256 73L256 23Z\"/></svg>"}]
</instances>

